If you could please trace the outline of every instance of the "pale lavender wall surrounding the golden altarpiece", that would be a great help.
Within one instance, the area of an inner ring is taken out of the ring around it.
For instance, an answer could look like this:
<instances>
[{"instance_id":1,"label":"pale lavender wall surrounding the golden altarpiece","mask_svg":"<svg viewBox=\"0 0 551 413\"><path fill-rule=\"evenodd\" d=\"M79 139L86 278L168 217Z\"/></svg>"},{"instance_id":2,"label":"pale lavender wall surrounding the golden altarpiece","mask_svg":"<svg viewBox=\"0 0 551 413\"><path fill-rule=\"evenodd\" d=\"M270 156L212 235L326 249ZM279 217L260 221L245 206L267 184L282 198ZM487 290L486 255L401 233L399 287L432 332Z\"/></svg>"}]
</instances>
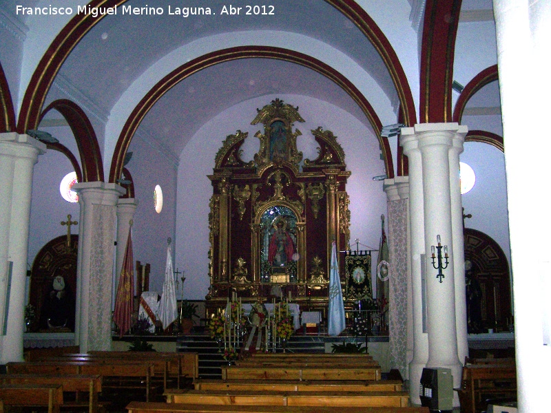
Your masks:
<instances>
[{"instance_id":1,"label":"pale lavender wall surrounding the golden altarpiece","mask_svg":"<svg viewBox=\"0 0 551 413\"><path fill-rule=\"evenodd\" d=\"M373 181L373 176L384 173L379 143L373 131L342 109L308 96L261 96L234 105L209 120L189 140L180 156L174 265L185 271L186 298L203 299L208 293L208 213L212 187L207 175L212 173L216 152L227 135L240 129L249 132L242 146L242 159L245 162L251 160L259 148L254 134L261 129L260 125L250 125L251 120L256 116L257 107L267 105L275 97L298 106L305 120L304 123L295 123L302 132L297 147L302 151L303 159L313 160L318 156L318 145L311 129L322 126L337 136L346 155L346 165L352 171L346 185L351 200L351 240L359 238L362 244L378 248L380 216L386 215L386 194L382 191L382 183ZM355 245L352 247L355 249ZM373 261L376 263L376 253Z\"/></svg>"}]
</instances>

